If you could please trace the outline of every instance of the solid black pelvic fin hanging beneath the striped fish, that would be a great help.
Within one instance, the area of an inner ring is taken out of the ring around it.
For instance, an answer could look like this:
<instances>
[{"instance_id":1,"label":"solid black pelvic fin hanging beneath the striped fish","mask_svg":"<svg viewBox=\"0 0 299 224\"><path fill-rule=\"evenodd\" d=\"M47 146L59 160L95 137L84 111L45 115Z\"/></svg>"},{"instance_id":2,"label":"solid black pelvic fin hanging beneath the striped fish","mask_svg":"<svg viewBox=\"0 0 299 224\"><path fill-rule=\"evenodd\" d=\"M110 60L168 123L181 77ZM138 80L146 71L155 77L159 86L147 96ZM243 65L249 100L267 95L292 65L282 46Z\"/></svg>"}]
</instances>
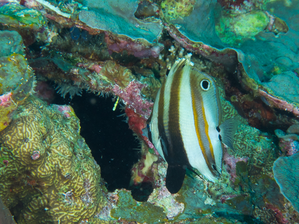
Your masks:
<instances>
[{"instance_id":1,"label":"solid black pelvic fin hanging beneath the striped fish","mask_svg":"<svg viewBox=\"0 0 299 224\"><path fill-rule=\"evenodd\" d=\"M166 188L171 194L181 189L186 175L186 167L168 165L166 173Z\"/></svg>"}]
</instances>

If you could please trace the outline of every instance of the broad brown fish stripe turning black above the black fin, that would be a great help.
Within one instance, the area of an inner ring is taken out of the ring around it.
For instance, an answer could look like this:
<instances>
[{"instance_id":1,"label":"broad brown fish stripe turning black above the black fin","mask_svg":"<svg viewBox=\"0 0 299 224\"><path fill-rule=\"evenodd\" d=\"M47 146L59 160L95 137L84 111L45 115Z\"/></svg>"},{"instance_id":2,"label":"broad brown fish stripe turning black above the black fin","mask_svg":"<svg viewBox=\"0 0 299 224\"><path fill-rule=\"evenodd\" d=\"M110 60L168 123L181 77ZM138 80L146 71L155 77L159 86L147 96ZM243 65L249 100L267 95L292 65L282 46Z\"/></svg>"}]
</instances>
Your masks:
<instances>
[{"instance_id":1,"label":"broad brown fish stripe turning black above the black fin","mask_svg":"<svg viewBox=\"0 0 299 224\"><path fill-rule=\"evenodd\" d=\"M182 133L180 129L180 85L182 76L188 75L184 73L185 63L182 64L175 72L171 83L170 99L169 99L169 117L168 131L170 133L170 149L168 150L168 163L177 165L188 165L186 149L184 147ZM175 80L175 81L174 81Z\"/></svg>"}]
</instances>

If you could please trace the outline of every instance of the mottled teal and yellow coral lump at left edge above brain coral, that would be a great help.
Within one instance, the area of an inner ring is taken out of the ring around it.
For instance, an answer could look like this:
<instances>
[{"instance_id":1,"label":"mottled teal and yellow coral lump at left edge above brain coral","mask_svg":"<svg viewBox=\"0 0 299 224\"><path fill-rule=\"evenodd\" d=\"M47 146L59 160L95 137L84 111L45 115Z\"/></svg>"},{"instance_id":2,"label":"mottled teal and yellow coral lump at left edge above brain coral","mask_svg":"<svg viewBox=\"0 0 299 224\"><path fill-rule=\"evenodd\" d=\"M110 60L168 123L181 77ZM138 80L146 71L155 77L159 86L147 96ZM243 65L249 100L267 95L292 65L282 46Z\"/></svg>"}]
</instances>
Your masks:
<instances>
[{"instance_id":1,"label":"mottled teal and yellow coral lump at left edge above brain coral","mask_svg":"<svg viewBox=\"0 0 299 224\"><path fill-rule=\"evenodd\" d=\"M0 131L11 121L18 102L33 92L35 76L23 56L22 37L16 31L0 31Z\"/></svg>"}]
</instances>

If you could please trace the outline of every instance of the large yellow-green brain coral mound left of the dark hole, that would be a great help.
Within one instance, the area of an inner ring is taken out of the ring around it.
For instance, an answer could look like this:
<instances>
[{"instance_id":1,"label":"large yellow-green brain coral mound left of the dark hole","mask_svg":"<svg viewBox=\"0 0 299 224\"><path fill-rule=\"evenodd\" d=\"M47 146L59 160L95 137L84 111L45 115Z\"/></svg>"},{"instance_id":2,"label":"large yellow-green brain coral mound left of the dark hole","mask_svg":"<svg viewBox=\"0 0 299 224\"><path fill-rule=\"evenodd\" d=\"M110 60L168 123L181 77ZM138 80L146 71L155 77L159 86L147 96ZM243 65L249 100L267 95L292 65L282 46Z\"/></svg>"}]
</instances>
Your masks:
<instances>
[{"instance_id":1,"label":"large yellow-green brain coral mound left of the dark hole","mask_svg":"<svg viewBox=\"0 0 299 224\"><path fill-rule=\"evenodd\" d=\"M0 196L18 224L78 223L105 205L100 166L79 133L71 107L32 96L0 132Z\"/></svg>"}]
</instances>

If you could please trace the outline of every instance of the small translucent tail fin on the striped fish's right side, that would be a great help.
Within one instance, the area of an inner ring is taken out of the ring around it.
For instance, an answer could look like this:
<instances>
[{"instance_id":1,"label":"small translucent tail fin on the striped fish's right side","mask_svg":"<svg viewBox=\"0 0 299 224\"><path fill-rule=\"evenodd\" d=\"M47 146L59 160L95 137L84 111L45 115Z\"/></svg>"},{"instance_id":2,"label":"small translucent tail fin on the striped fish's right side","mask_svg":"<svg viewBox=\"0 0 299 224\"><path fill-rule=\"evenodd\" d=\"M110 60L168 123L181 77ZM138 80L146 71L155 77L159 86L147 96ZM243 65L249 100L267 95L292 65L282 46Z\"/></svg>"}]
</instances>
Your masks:
<instances>
[{"instance_id":1,"label":"small translucent tail fin on the striped fish's right side","mask_svg":"<svg viewBox=\"0 0 299 224\"><path fill-rule=\"evenodd\" d=\"M217 131L221 136L221 142L228 146L230 149L234 150L233 143L234 143L234 135L238 129L240 124L240 119L238 117L233 117L227 119L223 122Z\"/></svg>"}]
</instances>

